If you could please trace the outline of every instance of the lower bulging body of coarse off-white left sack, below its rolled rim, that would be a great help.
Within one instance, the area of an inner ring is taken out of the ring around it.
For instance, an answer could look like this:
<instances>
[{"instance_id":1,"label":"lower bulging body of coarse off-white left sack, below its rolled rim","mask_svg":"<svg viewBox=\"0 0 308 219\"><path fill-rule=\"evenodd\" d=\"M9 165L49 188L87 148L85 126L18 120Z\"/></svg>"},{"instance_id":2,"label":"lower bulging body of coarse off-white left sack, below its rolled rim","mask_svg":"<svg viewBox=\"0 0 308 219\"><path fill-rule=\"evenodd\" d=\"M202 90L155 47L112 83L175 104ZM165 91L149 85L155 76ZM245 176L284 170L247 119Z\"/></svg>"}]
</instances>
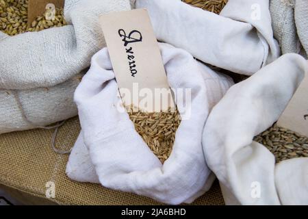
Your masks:
<instances>
[{"instance_id":1,"label":"lower bulging body of coarse off-white left sack, below its rolled rim","mask_svg":"<svg viewBox=\"0 0 308 219\"><path fill-rule=\"evenodd\" d=\"M77 115L73 101L82 74L49 88L0 90L0 134L44 127Z\"/></svg>"}]
</instances>

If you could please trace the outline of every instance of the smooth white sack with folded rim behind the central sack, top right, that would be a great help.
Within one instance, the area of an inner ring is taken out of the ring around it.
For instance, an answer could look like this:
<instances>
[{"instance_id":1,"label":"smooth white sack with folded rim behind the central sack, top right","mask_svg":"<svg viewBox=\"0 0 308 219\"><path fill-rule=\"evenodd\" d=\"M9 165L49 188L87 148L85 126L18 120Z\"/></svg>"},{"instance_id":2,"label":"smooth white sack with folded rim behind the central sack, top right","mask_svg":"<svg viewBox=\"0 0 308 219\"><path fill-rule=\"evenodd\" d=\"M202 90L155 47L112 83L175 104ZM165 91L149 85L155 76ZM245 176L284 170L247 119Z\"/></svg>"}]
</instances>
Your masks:
<instances>
[{"instance_id":1,"label":"smooth white sack with folded rim behind the central sack, top right","mask_svg":"<svg viewBox=\"0 0 308 219\"><path fill-rule=\"evenodd\" d=\"M220 15L180 0L137 0L158 40L183 48L207 64L253 75L279 57L268 0L229 0Z\"/></svg>"}]
</instances>

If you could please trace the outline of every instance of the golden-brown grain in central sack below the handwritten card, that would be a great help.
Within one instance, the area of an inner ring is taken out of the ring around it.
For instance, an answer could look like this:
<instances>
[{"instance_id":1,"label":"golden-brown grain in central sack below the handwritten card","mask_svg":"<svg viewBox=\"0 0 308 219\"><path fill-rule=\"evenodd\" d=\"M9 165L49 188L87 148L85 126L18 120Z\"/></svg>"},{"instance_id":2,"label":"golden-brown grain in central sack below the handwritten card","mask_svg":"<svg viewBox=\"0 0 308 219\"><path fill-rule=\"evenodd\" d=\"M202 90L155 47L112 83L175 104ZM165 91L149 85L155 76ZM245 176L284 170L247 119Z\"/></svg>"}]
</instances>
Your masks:
<instances>
[{"instance_id":1,"label":"golden-brown grain in central sack below the handwritten card","mask_svg":"<svg viewBox=\"0 0 308 219\"><path fill-rule=\"evenodd\" d=\"M179 112L172 112L170 109L168 112L155 113L128 110L128 114L136 131L164 164L170 156L175 133L181 123Z\"/></svg>"}]
</instances>

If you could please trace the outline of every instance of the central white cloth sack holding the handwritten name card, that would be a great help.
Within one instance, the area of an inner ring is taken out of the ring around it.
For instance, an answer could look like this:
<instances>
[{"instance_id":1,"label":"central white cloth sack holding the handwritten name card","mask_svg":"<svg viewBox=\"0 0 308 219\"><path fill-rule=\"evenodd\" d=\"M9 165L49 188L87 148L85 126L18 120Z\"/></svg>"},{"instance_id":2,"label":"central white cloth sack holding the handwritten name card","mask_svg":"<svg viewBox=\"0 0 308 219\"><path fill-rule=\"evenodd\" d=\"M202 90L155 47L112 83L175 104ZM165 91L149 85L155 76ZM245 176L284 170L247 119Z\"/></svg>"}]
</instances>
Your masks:
<instances>
[{"instance_id":1,"label":"central white cloth sack holding the handwritten name card","mask_svg":"<svg viewBox=\"0 0 308 219\"><path fill-rule=\"evenodd\" d=\"M103 49L92 57L91 68L75 92L82 131L66 173L76 181L100 182L163 203L191 203L215 179L203 156L202 130L209 110L233 81L182 49L159 46L170 87L192 89L191 116L182 120L169 159L162 165L128 114L116 109L118 86L107 49Z\"/></svg>"}]
</instances>

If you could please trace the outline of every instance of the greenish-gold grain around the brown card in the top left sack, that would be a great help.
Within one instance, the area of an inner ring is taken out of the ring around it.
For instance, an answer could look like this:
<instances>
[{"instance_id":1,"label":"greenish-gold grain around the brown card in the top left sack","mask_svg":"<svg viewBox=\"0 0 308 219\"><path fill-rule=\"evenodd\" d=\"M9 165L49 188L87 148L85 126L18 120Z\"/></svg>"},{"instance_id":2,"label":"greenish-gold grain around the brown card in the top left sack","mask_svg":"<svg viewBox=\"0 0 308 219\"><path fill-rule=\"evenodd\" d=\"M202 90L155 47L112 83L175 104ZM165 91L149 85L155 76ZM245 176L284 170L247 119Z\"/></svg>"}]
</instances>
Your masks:
<instances>
[{"instance_id":1,"label":"greenish-gold grain around the brown card in the top left sack","mask_svg":"<svg viewBox=\"0 0 308 219\"><path fill-rule=\"evenodd\" d=\"M28 0L0 0L0 31L15 36L27 31L40 31L66 25L62 8L56 9L55 18L51 21L45 19L45 13L38 16L31 27L27 27Z\"/></svg>"}]
</instances>

